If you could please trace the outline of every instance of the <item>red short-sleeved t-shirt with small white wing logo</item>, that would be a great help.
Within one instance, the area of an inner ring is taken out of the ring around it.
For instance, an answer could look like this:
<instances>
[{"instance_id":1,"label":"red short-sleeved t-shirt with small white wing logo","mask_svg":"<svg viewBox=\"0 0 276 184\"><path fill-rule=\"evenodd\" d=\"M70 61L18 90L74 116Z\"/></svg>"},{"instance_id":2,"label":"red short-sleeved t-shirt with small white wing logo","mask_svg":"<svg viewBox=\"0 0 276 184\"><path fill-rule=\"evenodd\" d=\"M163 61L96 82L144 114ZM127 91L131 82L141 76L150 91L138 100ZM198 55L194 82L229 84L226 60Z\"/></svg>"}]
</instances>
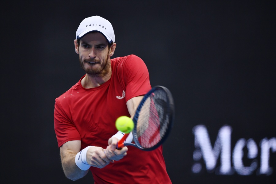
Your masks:
<instances>
[{"instance_id":1,"label":"red short-sleeved t-shirt with small white wing logo","mask_svg":"<svg viewBox=\"0 0 276 184\"><path fill-rule=\"evenodd\" d=\"M151 85L148 69L135 55L111 59L112 76L101 86L85 89L81 79L56 98L54 125L58 146L81 140L87 146L106 148L108 139L117 133L115 121L128 116L126 102L146 94ZM90 167L95 183L171 183L162 146L142 151L129 146L127 155L102 169Z\"/></svg>"}]
</instances>

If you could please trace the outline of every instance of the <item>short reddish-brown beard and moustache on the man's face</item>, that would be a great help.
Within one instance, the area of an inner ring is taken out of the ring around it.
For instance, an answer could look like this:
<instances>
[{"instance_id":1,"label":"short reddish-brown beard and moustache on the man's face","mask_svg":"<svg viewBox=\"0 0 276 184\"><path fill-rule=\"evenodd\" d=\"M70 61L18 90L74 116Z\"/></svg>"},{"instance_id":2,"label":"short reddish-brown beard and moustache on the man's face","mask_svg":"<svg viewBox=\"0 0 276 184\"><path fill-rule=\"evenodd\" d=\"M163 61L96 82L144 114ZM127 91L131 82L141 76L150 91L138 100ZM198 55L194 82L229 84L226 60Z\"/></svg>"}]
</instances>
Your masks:
<instances>
[{"instance_id":1,"label":"short reddish-brown beard and moustache on the man's face","mask_svg":"<svg viewBox=\"0 0 276 184\"><path fill-rule=\"evenodd\" d=\"M94 62L94 63L89 63L89 62ZM87 73L90 75L97 75L97 76L104 76L106 73L108 73L108 70L110 68L110 64L108 63L108 55L106 56L106 58L104 59L103 63L101 64L100 67L98 68L90 68L90 67L85 67L83 63L89 64L90 66L93 66L95 64L99 64L101 63L101 61L99 59L84 59L82 62L82 59L79 56L79 64L80 67Z\"/></svg>"}]
</instances>

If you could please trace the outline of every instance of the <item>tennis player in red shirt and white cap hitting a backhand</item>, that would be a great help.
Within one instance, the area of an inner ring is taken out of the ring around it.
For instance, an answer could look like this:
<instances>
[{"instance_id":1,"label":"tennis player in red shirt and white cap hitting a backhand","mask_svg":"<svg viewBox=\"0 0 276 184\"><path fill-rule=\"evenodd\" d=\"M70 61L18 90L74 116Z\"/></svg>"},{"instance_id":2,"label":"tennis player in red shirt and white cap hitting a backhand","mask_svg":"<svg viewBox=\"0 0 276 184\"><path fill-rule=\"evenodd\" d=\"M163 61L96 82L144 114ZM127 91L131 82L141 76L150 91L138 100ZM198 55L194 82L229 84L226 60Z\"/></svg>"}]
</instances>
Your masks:
<instances>
[{"instance_id":1,"label":"tennis player in red shirt and white cap hitting a backhand","mask_svg":"<svg viewBox=\"0 0 276 184\"><path fill-rule=\"evenodd\" d=\"M116 149L122 137L116 119L132 117L151 89L143 60L135 55L110 59L116 48L113 27L99 16L80 23L74 44L86 74L56 98L54 110L66 177L77 180L90 170L95 183L171 183L162 146L153 151Z\"/></svg>"}]
</instances>

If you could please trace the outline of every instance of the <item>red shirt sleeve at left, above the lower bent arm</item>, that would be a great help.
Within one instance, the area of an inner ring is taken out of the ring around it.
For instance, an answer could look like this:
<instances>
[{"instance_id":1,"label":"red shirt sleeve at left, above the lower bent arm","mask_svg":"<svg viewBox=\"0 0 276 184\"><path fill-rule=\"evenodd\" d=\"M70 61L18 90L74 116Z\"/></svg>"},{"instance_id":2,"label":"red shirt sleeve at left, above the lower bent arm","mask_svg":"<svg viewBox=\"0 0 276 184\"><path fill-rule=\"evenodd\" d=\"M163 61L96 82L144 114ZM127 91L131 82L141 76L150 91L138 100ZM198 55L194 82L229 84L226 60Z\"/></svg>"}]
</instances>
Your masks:
<instances>
[{"instance_id":1,"label":"red shirt sleeve at left, above the lower bent arm","mask_svg":"<svg viewBox=\"0 0 276 184\"><path fill-rule=\"evenodd\" d=\"M81 140L81 136L77 128L67 116L58 98L56 98L54 109L54 128L59 147L67 141Z\"/></svg>"}]
</instances>

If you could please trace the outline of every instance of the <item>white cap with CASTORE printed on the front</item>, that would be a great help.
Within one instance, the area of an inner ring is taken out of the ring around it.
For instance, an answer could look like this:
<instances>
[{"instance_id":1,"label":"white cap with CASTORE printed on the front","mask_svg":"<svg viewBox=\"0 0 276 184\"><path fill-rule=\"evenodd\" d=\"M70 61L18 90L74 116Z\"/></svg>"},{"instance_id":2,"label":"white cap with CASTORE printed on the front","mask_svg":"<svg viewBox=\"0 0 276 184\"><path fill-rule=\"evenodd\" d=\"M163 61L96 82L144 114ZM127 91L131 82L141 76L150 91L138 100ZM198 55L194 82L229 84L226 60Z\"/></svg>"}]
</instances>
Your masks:
<instances>
[{"instance_id":1,"label":"white cap with CASTORE printed on the front","mask_svg":"<svg viewBox=\"0 0 276 184\"><path fill-rule=\"evenodd\" d=\"M78 40L92 31L102 33L109 43L115 42L115 34L111 23L98 15L83 19L76 32L76 39Z\"/></svg>"}]
</instances>

